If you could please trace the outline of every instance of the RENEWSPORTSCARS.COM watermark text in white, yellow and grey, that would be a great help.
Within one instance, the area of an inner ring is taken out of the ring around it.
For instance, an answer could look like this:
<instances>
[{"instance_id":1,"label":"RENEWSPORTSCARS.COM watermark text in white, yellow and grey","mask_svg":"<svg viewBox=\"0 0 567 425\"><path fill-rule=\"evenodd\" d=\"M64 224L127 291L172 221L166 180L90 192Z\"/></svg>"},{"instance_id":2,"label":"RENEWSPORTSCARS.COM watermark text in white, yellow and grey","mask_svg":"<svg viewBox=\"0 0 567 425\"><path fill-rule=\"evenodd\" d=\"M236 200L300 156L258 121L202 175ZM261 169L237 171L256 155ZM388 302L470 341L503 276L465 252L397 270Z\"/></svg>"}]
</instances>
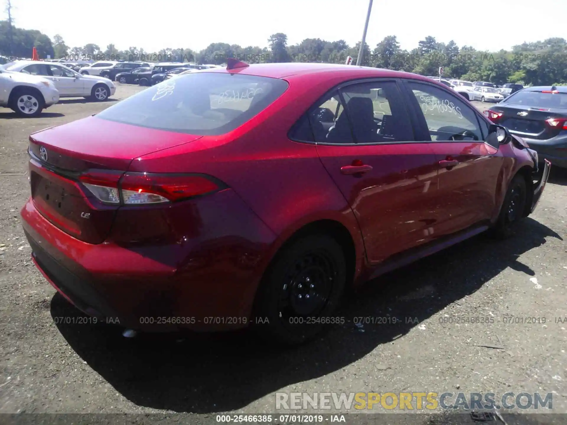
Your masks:
<instances>
[{"instance_id":1,"label":"RENEWSPORTSCARS.COM watermark text in white, yellow and grey","mask_svg":"<svg viewBox=\"0 0 567 425\"><path fill-rule=\"evenodd\" d=\"M276 393L276 410L512 410L553 409L547 393Z\"/></svg>"}]
</instances>

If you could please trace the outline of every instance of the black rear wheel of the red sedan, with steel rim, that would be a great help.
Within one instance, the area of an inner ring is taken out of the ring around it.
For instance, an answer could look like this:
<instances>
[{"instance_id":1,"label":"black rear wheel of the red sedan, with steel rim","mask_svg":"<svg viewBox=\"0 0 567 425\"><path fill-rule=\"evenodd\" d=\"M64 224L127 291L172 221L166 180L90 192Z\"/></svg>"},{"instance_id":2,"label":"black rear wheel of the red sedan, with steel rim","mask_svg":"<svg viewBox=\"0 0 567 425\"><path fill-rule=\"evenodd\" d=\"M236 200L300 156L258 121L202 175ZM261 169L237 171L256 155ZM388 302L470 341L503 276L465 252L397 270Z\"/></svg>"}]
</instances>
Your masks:
<instances>
[{"instance_id":1,"label":"black rear wheel of the red sedan, with steel rim","mask_svg":"<svg viewBox=\"0 0 567 425\"><path fill-rule=\"evenodd\" d=\"M254 328L278 345L306 342L337 324L333 313L345 284L341 245L327 235L303 237L282 248L266 270L256 294Z\"/></svg>"}]
</instances>

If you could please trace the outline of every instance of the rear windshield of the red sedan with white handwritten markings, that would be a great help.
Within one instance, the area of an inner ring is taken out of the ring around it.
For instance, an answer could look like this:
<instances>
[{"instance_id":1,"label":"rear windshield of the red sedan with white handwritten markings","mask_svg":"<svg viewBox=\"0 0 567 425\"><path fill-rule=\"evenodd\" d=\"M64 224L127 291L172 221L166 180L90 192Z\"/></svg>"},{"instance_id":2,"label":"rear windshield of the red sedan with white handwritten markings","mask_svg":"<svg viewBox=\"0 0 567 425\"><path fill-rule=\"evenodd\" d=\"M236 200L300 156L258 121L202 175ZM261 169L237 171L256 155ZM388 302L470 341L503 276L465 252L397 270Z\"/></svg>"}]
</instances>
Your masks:
<instances>
[{"instance_id":1,"label":"rear windshield of the red sedan with white handwritten markings","mask_svg":"<svg viewBox=\"0 0 567 425\"><path fill-rule=\"evenodd\" d=\"M191 73L165 80L97 117L159 130L218 135L260 113L287 82L254 75Z\"/></svg>"}]
</instances>

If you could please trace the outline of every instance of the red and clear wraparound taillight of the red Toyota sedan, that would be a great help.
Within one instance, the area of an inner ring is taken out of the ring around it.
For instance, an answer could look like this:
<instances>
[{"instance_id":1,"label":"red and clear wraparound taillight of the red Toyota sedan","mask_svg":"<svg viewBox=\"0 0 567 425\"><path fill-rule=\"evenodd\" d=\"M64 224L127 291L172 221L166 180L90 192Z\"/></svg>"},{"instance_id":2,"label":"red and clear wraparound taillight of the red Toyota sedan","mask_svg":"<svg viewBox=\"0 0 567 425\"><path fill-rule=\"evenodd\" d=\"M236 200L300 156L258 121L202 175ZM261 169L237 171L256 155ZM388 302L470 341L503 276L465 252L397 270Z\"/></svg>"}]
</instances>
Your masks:
<instances>
[{"instance_id":1,"label":"red and clear wraparound taillight of the red Toyota sedan","mask_svg":"<svg viewBox=\"0 0 567 425\"><path fill-rule=\"evenodd\" d=\"M105 180L106 178L106 180ZM99 201L113 205L175 202L217 192L222 184L201 174L88 173L79 178Z\"/></svg>"}]
</instances>

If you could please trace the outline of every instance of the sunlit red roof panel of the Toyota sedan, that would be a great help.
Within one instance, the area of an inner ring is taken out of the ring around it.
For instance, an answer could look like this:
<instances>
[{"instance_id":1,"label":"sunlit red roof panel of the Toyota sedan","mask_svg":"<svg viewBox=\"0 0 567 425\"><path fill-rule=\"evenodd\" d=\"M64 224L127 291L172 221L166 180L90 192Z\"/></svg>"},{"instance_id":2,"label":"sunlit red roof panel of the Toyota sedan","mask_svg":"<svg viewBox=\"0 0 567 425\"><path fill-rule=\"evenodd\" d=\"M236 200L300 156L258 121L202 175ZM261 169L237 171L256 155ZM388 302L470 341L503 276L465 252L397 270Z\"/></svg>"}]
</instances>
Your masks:
<instances>
[{"instance_id":1,"label":"sunlit red roof panel of the Toyota sedan","mask_svg":"<svg viewBox=\"0 0 567 425\"><path fill-rule=\"evenodd\" d=\"M327 74L331 76L344 76L345 78L413 78L431 82L434 79L423 75L393 71L389 69L373 68L368 66L338 65L336 63L255 63L243 68L227 70L226 67L217 67L201 70L207 73L238 73L246 75L267 76L271 78L285 78L291 75Z\"/></svg>"}]
</instances>

